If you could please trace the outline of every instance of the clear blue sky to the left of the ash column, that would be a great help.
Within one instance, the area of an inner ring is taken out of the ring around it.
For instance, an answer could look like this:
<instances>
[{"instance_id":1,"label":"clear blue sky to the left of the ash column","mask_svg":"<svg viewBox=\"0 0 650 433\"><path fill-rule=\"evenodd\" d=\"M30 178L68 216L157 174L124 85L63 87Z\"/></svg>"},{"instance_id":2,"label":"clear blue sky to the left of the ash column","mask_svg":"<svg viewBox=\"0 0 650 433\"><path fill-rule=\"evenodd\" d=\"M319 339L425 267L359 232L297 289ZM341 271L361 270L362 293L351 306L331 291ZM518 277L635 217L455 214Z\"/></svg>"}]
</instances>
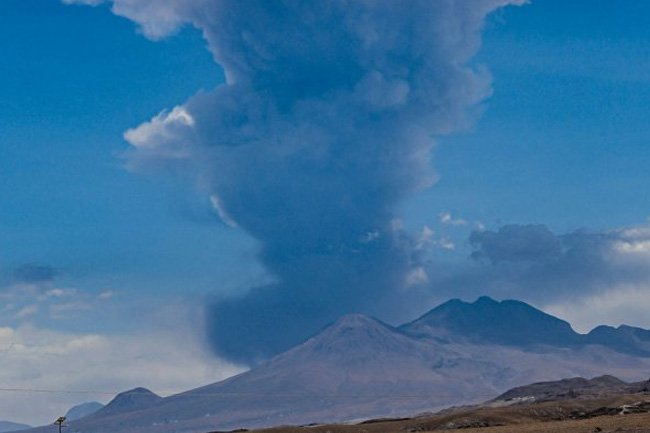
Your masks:
<instances>
[{"instance_id":1,"label":"clear blue sky to the left of the ash column","mask_svg":"<svg viewBox=\"0 0 650 433\"><path fill-rule=\"evenodd\" d=\"M155 297L235 284L226 268L245 250L224 251L233 234L203 198L129 174L120 159L127 128L222 79L198 32L153 43L103 7L4 7L5 282L17 267L41 265L89 291Z\"/></svg>"}]
</instances>

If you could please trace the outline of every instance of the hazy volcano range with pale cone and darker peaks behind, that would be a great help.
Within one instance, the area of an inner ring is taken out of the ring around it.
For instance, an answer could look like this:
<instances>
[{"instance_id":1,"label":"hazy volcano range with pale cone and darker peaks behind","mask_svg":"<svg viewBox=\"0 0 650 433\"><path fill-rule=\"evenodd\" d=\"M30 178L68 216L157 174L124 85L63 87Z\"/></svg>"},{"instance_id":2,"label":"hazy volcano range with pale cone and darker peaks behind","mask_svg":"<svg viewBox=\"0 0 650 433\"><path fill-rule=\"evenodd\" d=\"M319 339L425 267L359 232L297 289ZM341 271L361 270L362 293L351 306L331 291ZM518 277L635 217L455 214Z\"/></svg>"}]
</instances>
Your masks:
<instances>
[{"instance_id":1,"label":"hazy volcano range with pale cone and darker peaks behind","mask_svg":"<svg viewBox=\"0 0 650 433\"><path fill-rule=\"evenodd\" d=\"M207 432L403 416L478 403L531 381L640 380L650 372L645 340L635 348L634 339L621 346L587 338L527 304L489 298L450 301L400 328L350 315L225 381L167 398L123 393L70 431Z\"/></svg>"}]
</instances>

